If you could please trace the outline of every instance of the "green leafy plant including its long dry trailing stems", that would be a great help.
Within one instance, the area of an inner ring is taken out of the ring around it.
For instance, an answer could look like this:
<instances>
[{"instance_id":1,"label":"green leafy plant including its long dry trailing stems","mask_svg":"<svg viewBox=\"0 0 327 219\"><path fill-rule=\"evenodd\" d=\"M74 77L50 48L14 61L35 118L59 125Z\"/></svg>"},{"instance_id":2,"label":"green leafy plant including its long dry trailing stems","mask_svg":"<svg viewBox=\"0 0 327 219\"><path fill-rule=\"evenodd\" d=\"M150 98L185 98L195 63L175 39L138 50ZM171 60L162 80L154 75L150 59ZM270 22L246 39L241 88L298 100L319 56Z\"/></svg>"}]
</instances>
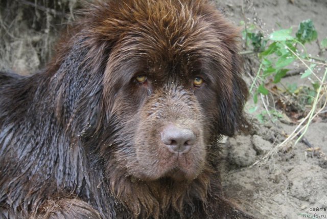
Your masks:
<instances>
[{"instance_id":1,"label":"green leafy plant including its long dry trailing stems","mask_svg":"<svg viewBox=\"0 0 327 219\"><path fill-rule=\"evenodd\" d=\"M313 118L327 106L326 60L312 57L306 49L306 45L317 40L317 36L318 33L310 19L302 21L296 32L292 28L282 29L265 37L253 26L245 28L243 33L245 46L251 48L251 51L244 51L241 54L256 54L260 63L249 89L254 103L249 113L254 113L260 108L256 105L259 99L265 107L265 111L259 114L257 112L257 118L261 122L267 120L274 122L275 119L283 116L275 108L278 102L286 107L285 102L289 101L303 112L301 117L294 121L298 125L289 137L269 151L263 160L269 159L294 138L297 138L296 144L305 135ZM327 49L327 38L317 44L320 47L320 53L323 52ZM283 84L284 77L288 76L291 71L301 68L304 70L298 72L301 73L299 79L310 81L311 85ZM269 102L269 99L274 100L274 98L279 98L281 101ZM294 101L291 102L292 99Z\"/></svg>"}]
</instances>

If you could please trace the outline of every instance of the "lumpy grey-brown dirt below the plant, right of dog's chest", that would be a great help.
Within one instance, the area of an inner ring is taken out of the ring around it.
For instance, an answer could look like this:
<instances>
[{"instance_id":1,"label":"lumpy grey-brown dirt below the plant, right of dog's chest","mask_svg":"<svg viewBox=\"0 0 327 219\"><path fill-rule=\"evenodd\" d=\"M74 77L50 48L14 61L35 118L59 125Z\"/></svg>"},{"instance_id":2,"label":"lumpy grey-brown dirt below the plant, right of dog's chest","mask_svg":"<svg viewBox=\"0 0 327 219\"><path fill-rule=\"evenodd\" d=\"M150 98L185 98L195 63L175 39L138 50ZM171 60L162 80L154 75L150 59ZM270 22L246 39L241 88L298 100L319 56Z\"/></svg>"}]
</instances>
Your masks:
<instances>
[{"instance_id":1,"label":"lumpy grey-brown dirt below the plant, right of dog's chest","mask_svg":"<svg viewBox=\"0 0 327 219\"><path fill-rule=\"evenodd\" d=\"M316 134L317 130L327 130L327 124L312 126L309 139L316 138L311 142L326 150L325 138ZM285 138L283 129L255 124L250 135L227 139L223 149L225 159L220 168L226 195L258 218L297 218L316 208L320 200L327 201L326 157L298 143L289 144L268 161L261 160L273 145ZM256 161L259 163L251 166Z\"/></svg>"}]
</instances>

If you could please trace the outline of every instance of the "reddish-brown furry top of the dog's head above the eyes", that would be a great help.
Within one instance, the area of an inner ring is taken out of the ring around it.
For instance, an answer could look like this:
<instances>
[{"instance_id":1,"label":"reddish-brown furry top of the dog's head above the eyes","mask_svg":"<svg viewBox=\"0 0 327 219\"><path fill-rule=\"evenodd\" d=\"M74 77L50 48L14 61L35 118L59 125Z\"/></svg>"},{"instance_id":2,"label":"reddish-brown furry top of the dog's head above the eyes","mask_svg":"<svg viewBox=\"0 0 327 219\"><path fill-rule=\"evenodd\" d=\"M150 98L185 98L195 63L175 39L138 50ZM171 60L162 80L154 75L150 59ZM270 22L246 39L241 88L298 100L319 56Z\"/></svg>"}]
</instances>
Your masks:
<instances>
[{"instance_id":1,"label":"reddish-brown furry top of the dog's head above the eyes","mask_svg":"<svg viewBox=\"0 0 327 219\"><path fill-rule=\"evenodd\" d=\"M117 3L121 4L121 8L115 7L120 8L119 13L111 11L102 22L111 25L110 28L97 28L101 33L106 31L106 36L117 34L108 61L111 76L120 72L130 77L143 71L190 72L203 67L210 69L210 64L231 69L231 54L226 36L222 34L228 25L214 6L194 2L207 1L124 0ZM230 31L227 39L234 38L235 33Z\"/></svg>"}]
</instances>

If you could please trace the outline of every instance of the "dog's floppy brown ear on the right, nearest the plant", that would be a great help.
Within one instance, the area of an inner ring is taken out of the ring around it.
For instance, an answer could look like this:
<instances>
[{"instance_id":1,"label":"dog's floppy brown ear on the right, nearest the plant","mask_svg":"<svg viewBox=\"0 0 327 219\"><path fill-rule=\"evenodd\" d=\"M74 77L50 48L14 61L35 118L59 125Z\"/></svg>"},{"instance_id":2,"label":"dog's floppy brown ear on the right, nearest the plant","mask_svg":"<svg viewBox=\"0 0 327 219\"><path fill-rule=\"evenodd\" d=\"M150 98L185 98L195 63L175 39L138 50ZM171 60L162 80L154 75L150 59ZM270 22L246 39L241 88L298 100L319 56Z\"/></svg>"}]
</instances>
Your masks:
<instances>
[{"instance_id":1,"label":"dog's floppy brown ear on the right, nearest the plant","mask_svg":"<svg viewBox=\"0 0 327 219\"><path fill-rule=\"evenodd\" d=\"M243 61L239 54L240 28L229 24L223 17L217 17L219 21L215 25L217 35L225 52L221 57L225 64L224 74L218 93L218 130L220 134L232 136L240 129L245 120L243 118L243 107L248 96L248 89L242 78Z\"/></svg>"}]
</instances>

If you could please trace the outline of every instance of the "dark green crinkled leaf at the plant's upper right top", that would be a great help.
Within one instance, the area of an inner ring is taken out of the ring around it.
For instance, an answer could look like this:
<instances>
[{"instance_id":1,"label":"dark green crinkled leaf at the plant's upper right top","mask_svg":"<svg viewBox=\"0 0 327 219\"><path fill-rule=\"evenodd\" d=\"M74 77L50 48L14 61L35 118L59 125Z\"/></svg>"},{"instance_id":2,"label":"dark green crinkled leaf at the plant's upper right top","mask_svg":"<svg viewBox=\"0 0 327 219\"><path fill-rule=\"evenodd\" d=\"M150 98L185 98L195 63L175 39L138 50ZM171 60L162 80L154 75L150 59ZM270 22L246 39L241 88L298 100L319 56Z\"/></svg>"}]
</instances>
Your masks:
<instances>
[{"instance_id":1,"label":"dark green crinkled leaf at the plant's upper right top","mask_svg":"<svg viewBox=\"0 0 327 219\"><path fill-rule=\"evenodd\" d=\"M311 19L303 20L299 24L295 35L296 38L302 43L311 42L316 40L318 37L318 33Z\"/></svg>"}]
</instances>

